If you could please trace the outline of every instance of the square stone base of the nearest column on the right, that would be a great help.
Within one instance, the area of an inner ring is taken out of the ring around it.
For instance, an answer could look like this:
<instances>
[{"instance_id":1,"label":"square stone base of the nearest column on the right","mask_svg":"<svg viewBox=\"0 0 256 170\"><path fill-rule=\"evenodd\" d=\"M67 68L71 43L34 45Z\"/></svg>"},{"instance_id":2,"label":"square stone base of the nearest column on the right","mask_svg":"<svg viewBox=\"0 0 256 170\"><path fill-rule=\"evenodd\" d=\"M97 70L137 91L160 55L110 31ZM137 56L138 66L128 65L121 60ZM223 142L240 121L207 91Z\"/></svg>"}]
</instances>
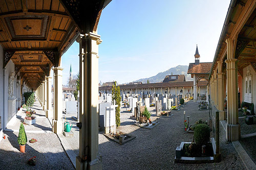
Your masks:
<instances>
[{"instance_id":1,"label":"square stone base of the nearest column on the right","mask_svg":"<svg viewBox=\"0 0 256 170\"><path fill-rule=\"evenodd\" d=\"M240 139L240 125L226 124L226 139L236 141Z\"/></svg>"}]
</instances>

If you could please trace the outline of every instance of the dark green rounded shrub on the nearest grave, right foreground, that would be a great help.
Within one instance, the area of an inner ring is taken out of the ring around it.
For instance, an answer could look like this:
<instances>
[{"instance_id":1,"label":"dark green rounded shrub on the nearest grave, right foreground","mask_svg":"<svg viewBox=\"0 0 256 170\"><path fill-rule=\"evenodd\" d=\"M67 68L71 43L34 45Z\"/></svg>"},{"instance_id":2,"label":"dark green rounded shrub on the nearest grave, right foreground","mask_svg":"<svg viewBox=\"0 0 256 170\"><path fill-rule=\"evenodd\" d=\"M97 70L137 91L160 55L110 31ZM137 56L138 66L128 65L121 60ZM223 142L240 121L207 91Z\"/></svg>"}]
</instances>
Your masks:
<instances>
[{"instance_id":1,"label":"dark green rounded shrub on the nearest grave, right foreground","mask_svg":"<svg viewBox=\"0 0 256 170\"><path fill-rule=\"evenodd\" d=\"M210 140L210 128L206 124L198 124L194 133L195 142L198 145L207 144Z\"/></svg>"}]
</instances>

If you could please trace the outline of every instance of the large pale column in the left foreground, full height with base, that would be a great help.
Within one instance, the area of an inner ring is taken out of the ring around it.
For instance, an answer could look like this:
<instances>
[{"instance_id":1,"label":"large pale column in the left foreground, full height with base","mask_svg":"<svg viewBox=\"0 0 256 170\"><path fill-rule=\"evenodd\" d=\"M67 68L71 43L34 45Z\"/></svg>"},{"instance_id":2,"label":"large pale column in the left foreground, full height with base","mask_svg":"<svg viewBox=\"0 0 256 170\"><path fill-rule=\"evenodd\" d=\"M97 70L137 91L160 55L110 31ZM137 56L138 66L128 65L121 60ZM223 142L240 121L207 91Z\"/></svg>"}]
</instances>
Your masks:
<instances>
[{"instance_id":1,"label":"large pale column in the left foreground, full height with base","mask_svg":"<svg viewBox=\"0 0 256 170\"><path fill-rule=\"evenodd\" d=\"M98 45L100 36L94 33L81 35L79 42L80 64L80 118L79 156L76 169L102 169L98 153ZM83 160L87 155L87 160Z\"/></svg>"}]
</instances>

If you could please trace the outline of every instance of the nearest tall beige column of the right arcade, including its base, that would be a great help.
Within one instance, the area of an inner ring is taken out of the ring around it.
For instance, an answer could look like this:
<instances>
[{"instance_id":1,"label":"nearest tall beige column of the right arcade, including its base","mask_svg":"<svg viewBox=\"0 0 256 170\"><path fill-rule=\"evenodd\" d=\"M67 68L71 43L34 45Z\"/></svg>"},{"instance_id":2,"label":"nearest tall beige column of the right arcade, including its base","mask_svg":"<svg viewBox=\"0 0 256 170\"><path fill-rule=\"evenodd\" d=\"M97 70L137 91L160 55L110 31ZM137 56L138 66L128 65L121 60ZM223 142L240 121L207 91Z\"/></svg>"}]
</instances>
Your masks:
<instances>
[{"instance_id":1,"label":"nearest tall beige column of the right arcade, including its base","mask_svg":"<svg viewBox=\"0 0 256 170\"><path fill-rule=\"evenodd\" d=\"M231 38L226 39L227 43L227 124L226 139L236 141L240 138L240 125L238 122L238 65L234 59L235 48ZM235 41L236 43L236 41Z\"/></svg>"}]
</instances>

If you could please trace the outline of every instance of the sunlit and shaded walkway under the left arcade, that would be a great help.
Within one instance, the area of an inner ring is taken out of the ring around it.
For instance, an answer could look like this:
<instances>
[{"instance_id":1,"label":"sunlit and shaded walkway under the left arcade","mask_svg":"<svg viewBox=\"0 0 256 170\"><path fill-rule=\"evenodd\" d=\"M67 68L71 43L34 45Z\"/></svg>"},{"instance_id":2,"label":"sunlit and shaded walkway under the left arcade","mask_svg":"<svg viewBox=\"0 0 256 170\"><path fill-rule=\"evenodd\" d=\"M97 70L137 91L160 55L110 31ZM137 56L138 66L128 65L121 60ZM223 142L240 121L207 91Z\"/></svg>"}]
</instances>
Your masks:
<instances>
[{"instance_id":1,"label":"sunlit and shaded walkway under the left arcade","mask_svg":"<svg viewBox=\"0 0 256 170\"><path fill-rule=\"evenodd\" d=\"M17 114L14 125L4 131L6 139L0 142L0 169L74 169L58 136L51 132L52 126L38 100L31 109L36 111L37 122L24 125L28 137L26 153L19 152L17 143L19 126L26 116L25 110L22 110ZM29 143L31 138L37 142ZM36 166L29 166L26 162L33 156L36 156Z\"/></svg>"}]
</instances>

